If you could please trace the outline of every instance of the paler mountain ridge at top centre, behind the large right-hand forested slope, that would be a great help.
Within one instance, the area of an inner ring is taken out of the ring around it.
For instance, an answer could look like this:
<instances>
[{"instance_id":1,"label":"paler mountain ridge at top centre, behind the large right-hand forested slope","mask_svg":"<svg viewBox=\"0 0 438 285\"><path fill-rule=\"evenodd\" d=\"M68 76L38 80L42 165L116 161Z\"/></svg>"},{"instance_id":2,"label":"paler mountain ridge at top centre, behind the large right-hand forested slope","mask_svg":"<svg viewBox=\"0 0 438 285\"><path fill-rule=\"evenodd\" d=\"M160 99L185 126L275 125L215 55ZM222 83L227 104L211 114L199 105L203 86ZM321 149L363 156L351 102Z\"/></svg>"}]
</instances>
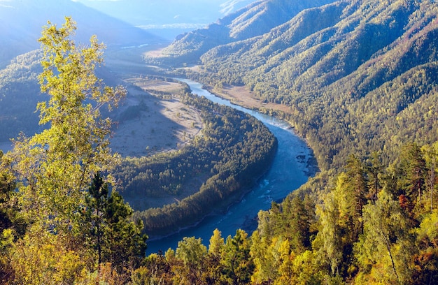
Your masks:
<instances>
[{"instance_id":1,"label":"paler mountain ridge at top centre, behind the large right-hand forested slope","mask_svg":"<svg viewBox=\"0 0 438 285\"><path fill-rule=\"evenodd\" d=\"M213 47L261 36L306 8L334 0L261 0L210 24L176 38L163 54L171 64L193 63Z\"/></svg>"}]
</instances>

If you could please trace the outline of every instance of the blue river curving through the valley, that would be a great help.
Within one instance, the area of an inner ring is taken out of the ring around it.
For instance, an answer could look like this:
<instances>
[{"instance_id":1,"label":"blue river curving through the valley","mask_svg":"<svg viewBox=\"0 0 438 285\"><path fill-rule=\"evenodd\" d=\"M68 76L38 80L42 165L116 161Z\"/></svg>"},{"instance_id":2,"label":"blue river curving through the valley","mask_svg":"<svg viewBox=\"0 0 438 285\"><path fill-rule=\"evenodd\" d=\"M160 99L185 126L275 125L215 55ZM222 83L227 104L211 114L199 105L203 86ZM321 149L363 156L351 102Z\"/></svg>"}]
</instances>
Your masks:
<instances>
[{"instance_id":1,"label":"blue river curving through the valley","mask_svg":"<svg viewBox=\"0 0 438 285\"><path fill-rule=\"evenodd\" d=\"M243 196L240 203L229 207L224 214L206 217L197 226L186 228L160 240L148 241L146 254L159 250L167 251L169 248L176 249L178 241L182 240L183 237L202 238L202 242L208 247L209 239L216 228L221 231L224 238L227 238L228 235L234 236L238 228L244 229L250 235L257 227L255 221L257 213L260 210L268 210L271 207L271 201L283 200L285 196L288 196L288 193L304 184L313 172L312 169L309 169L308 164L308 161L313 161L311 149L304 140L295 135L288 123L234 105L202 89L199 82L185 79L181 79L181 81L186 82L192 89L192 93L198 96L205 96L213 102L231 106L259 119L276 136L278 150L269 171L260 179L259 184Z\"/></svg>"}]
</instances>

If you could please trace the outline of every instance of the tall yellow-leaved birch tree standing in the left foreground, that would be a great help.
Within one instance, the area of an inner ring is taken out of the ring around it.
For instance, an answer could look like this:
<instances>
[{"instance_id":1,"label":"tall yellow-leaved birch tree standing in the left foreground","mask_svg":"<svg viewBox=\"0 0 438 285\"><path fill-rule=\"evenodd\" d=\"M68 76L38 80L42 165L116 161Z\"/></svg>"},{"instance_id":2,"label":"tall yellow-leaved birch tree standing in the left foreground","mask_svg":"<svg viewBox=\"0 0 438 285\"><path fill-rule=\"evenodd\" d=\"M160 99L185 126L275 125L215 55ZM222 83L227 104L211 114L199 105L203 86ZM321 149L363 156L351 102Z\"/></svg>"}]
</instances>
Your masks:
<instances>
[{"instance_id":1,"label":"tall yellow-leaved birch tree standing in the left foreground","mask_svg":"<svg viewBox=\"0 0 438 285\"><path fill-rule=\"evenodd\" d=\"M78 47L71 39L76 23L66 17L61 28L48 22L39 39L43 50L39 75L41 92L50 96L37 105L41 133L14 141L8 153L19 183L22 211L31 224L57 233L69 232L83 204L85 192L97 172L112 181L119 163L109 148L111 119L100 109L117 106L125 96L122 87L108 87L94 74L104 45L92 36L90 46Z\"/></svg>"}]
</instances>

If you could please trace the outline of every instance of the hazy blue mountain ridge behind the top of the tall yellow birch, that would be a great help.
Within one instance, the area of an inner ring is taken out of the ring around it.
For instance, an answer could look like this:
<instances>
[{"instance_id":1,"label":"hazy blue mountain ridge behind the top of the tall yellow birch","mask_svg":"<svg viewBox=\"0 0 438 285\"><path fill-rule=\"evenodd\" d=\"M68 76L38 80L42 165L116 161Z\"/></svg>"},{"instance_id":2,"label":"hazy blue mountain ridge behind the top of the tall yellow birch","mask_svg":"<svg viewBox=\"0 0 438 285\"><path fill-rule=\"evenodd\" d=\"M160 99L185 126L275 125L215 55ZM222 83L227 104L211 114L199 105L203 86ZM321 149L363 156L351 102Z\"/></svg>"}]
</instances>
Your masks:
<instances>
[{"instance_id":1,"label":"hazy blue mountain ridge behind the top of the tall yellow birch","mask_svg":"<svg viewBox=\"0 0 438 285\"><path fill-rule=\"evenodd\" d=\"M143 29L104 15L70 0L0 0L0 66L10 59L40 47L37 39L42 27L50 22L62 24L65 16L77 22L78 41L90 36L106 45L135 45L163 41Z\"/></svg>"}]
</instances>

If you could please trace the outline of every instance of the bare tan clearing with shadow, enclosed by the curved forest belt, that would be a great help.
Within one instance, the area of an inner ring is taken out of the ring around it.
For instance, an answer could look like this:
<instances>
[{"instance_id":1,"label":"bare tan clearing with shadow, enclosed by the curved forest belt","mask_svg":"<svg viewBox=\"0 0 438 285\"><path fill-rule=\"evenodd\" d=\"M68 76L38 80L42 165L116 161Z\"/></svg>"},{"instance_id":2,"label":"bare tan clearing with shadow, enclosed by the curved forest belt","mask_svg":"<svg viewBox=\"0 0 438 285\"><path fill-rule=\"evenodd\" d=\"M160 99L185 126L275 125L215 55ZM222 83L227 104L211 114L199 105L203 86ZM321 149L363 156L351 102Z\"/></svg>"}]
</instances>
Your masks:
<instances>
[{"instance_id":1,"label":"bare tan clearing with shadow, enclosed by the curved forest belt","mask_svg":"<svg viewBox=\"0 0 438 285\"><path fill-rule=\"evenodd\" d=\"M125 74L128 96L115 121L111 148L122 156L147 156L181 149L203 128L199 112L179 99L175 82ZM159 98L159 94L173 94Z\"/></svg>"}]
</instances>

